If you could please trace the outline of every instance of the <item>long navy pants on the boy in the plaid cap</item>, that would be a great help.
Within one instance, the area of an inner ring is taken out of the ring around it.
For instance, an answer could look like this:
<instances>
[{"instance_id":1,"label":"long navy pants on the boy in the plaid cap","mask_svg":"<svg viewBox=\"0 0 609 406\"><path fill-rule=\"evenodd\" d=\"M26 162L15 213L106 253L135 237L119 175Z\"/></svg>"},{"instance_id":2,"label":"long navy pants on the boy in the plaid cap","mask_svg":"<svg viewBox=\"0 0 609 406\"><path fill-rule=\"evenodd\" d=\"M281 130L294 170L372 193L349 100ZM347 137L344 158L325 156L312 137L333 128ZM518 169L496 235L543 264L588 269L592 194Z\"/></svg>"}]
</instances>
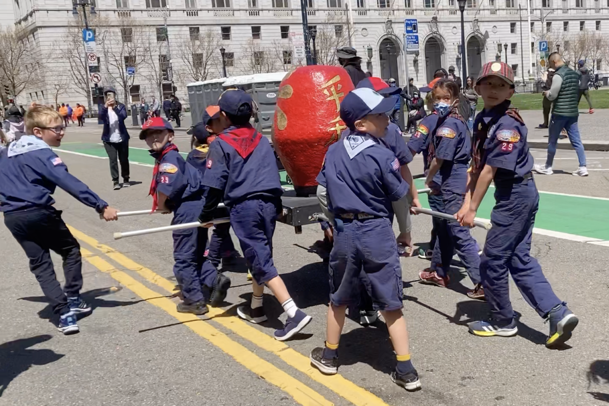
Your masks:
<instances>
[{"instance_id":1,"label":"long navy pants on the boy in the plaid cap","mask_svg":"<svg viewBox=\"0 0 609 406\"><path fill-rule=\"evenodd\" d=\"M508 275L541 317L562 302L552 291L537 259L530 256L539 194L533 179L496 184L493 228L488 231L480 264L484 296L496 320L512 320Z\"/></svg>"}]
</instances>

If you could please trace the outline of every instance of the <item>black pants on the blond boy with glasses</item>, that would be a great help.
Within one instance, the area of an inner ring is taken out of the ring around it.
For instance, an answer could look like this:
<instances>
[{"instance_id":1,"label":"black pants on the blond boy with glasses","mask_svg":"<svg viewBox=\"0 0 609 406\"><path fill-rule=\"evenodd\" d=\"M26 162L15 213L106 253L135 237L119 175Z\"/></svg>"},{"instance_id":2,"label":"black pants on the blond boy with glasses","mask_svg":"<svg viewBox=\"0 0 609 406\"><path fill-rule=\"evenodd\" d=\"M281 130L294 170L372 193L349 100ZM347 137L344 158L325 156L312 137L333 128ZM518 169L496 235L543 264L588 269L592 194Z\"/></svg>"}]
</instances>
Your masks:
<instances>
[{"instance_id":1,"label":"black pants on the blond boy with glasses","mask_svg":"<svg viewBox=\"0 0 609 406\"><path fill-rule=\"evenodd\" d=\"M36 276L54 312L60 315L68 313L67 298L78 296L82 288L82 257L78 241L62 220L62 212L49 206L6 213L4 224L26 251L30 271ZM63 290L55 277L50 250L63 258L66 278Z\"/></svg>"}]
</instances>

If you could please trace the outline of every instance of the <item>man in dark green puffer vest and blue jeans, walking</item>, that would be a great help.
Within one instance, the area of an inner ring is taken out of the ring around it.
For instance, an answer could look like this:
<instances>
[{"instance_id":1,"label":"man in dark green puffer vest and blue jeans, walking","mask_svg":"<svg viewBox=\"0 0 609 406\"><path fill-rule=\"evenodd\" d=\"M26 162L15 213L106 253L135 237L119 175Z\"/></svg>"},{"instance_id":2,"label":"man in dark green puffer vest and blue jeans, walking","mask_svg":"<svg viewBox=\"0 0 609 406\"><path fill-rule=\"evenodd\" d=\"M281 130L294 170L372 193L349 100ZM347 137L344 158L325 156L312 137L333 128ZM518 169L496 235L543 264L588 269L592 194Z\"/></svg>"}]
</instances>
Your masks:
<instances>
[{"instance_id":1,"label":"man in dark green puffer vest and blue jeans, walking","mask_svg":"<svg viewBox=\"0 0 609 406\"><path fill-rule=\"evenodd\" d=\"M577 153L579 168L573 172L575 176L588 176L586 169L586 153L583 150L582 139L577 127L579 118L579 75L569 68L558 52L552 52L548 58L549 68L555 69L552 77L552 87L544 91L544 97L554 101L552 105L552 116L548 129L549 139L547 141L547 158L544 165L536 164L533 169L543 175L552 175L552 161L556 154L556 144L560 131L565 128L569 142Z\"/></svg>"}]
</instances>

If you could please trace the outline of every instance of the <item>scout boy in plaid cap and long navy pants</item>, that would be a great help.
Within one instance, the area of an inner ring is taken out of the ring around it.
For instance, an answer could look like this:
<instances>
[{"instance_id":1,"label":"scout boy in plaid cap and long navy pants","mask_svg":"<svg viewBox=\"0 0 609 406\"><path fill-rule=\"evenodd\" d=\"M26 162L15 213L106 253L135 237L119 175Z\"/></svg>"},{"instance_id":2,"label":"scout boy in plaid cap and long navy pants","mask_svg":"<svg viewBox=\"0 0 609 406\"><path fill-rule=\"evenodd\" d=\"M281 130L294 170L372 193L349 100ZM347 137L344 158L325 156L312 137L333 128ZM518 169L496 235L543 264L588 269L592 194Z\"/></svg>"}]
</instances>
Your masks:
<instances>
[{"instance_id":1,"label":"scout boy in plaid cap and long navy pants","mask_svg":"<svg viewBox=\"0 0 609 406\"><path fill-rule=\"evenodd\" d=\"M530 256L539 194L531 173L527 127L518 111L510 107L514 72L505 63L487 63L476 81L476 93L484 99L484 111L474 121L468 197L455 217L463 225L473 226L491 181L495 181L496 204L480 264L491 318L470 323L469 331L482 337L516 335L508 285L508 275L512 275L527 303L549 321L546 346L552 348L571 338L579 320L557 298L539 263Z\"/></svg>"}]
</instances>

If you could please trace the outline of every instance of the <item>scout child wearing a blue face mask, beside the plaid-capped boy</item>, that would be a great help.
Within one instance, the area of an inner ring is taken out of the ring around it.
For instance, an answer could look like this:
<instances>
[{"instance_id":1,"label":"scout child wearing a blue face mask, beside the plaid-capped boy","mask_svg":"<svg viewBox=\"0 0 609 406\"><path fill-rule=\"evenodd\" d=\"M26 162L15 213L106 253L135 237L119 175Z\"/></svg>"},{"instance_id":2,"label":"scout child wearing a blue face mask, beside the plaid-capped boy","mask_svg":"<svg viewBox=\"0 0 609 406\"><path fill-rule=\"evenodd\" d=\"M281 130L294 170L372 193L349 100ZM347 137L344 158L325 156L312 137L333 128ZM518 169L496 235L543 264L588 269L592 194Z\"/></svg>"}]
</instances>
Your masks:
<instances>
[{"instance_id":1,"label":"scout child wearing a blue face mask, beside the plaid-capped boy","mask_svg":"<svg viewBox=\"0 0 609 406\"><path fill-rule=\"evenodd\" d=\"M471 138L467 124L458 111L459 88L448 79L435 84L432 92L434 109L438 114L437 129L432 134L426 184L432 189L429 207L446 214L455 214L463 205L467 186L467 169L471 156ZM419 273L421 281L446 287L448 270L454 248L471 281L476 285L470 298L482 299L484 292L480 284L480 256L476 240L470 230L458 222L440 220L437 229L437 244L434 248L432 266Z\"/></svg>"}]
</instances>

